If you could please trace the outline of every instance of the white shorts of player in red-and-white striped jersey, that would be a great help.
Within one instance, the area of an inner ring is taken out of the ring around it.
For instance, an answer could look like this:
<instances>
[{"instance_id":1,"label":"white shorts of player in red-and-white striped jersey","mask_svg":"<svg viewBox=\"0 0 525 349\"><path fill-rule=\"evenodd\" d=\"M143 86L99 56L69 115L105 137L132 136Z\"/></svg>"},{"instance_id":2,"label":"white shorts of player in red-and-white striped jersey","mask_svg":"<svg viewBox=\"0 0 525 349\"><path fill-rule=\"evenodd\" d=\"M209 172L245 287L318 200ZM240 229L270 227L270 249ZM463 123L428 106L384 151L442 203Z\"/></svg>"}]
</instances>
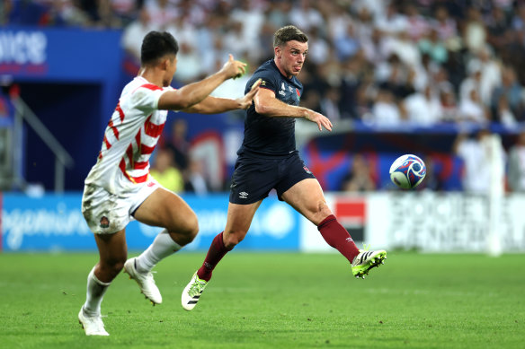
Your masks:
<instances>
[{"instance_id":1,"label":"white shorts of player in red-and-white striped jersey","mask_svg":"<svg viewBox=\"0 0 525 349\"><path fill-rule=\"evenodd\" d=\"M106 189L86 184L82 196L82 214L89 229L95 234L113 234L134 221L133 213L157 188L163 188L155 179L119 195Z\"/></svg>"}]
</instances>

